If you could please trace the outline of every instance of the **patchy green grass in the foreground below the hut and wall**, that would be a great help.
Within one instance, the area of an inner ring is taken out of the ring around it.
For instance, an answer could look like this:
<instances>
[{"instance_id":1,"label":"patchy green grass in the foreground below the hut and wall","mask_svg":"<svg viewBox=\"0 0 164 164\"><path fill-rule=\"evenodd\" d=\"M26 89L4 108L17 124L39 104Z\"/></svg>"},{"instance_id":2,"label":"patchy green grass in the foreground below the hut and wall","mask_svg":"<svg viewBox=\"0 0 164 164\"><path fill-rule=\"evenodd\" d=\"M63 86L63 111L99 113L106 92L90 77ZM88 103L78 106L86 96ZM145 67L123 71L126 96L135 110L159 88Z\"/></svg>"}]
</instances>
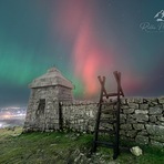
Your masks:
<instances>
[{"instance_id":1,"label":"patchy green grass in the foreground below the hut and wall","mask_svg":"<svg viewBox=\"0 0 164 164\"><path fill-rule=\"evenodd\" d=\"M164 164L164 150L157 147L142 147L139 157L122 151L113 161L112 150L104 147L88 156L91 134L21 132L21 127L0 130L0 164Z\"/></svg>"}]
</instances>

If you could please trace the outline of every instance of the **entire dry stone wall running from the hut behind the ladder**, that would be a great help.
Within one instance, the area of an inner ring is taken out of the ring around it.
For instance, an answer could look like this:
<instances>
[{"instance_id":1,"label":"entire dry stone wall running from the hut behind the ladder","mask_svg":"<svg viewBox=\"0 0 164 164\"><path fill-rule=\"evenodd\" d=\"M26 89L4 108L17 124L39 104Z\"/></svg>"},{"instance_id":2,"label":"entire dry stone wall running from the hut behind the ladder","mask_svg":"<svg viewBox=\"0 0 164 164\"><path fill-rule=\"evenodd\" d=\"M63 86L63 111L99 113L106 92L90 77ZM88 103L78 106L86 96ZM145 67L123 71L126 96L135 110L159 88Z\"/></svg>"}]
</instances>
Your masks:
<instances>
[{"instance_id":1,"label":"entire dry stone wall running from the hut behind the ladder","mask_svg":"<svg viewBox=\"0 0 164 164\"><path fill-rule=\"evenodd\" d=\"M121 101L122 139L143 144L164 146L164 98L158 99L122 99ZM104 105L103 110L114 110L115 106ZM93 132L98 103L76 102L62 105L63 126L76 131ZM102 117L113 119L106 112ZM101 129L113 129L113 124L101 124Z\"/></svg>"}]
</instances>

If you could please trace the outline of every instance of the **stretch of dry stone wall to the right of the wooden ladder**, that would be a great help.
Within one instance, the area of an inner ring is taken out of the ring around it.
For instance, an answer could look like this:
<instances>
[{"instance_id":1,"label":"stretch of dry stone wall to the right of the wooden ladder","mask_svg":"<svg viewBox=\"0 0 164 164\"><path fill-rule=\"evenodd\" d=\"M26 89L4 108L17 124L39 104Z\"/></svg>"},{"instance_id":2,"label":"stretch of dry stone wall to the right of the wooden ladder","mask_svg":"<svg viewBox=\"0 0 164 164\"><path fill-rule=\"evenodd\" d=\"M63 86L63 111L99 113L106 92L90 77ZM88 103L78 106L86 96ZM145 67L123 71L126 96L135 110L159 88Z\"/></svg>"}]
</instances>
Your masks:
<instances>
[{"instance_id":1,"label":"stretch of dry stone wall to the right of the wooden ladder","mask_svg":"<svg viewBox=\"0 0 164 164\"><path fill-rule=\"evenodd\" d=\"M164 99L126 99L121 106L121 135L164 146Z\"/></svg>"}]
</instances>

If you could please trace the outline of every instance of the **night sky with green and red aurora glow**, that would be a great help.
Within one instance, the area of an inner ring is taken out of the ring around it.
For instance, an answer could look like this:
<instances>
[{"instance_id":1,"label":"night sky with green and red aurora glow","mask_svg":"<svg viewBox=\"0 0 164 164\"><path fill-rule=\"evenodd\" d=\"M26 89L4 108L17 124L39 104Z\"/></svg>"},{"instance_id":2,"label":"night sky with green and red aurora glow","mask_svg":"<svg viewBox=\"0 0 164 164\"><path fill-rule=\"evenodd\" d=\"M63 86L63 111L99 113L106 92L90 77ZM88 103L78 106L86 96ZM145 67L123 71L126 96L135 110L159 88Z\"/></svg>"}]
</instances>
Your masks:
<instances>
[{"instance_id":1,"label":"night sky with green and red aurora glow","mask_svg":"<svg viewBox=\"0 0 164 164\"><path fill-rule=\"evenodd\" d=\"M126 96L164 95L163 10L162 0L0 0L0 106L27 105L28 84L52 65L76 99L99 96L99 74L113 90L115 70Z\"/></svg>"}]
</instances>

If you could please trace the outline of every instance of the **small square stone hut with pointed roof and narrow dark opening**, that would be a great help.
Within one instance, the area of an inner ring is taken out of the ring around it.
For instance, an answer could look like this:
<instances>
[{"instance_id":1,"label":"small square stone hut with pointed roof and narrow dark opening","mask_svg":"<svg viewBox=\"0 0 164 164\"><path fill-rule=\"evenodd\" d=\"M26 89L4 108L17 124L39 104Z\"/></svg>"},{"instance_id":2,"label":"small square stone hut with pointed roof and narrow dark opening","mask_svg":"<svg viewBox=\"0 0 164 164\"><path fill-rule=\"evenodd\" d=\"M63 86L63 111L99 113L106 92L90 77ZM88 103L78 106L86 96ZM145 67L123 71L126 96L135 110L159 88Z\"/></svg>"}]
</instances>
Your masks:
<instances>
[{"instance_id":1,"label":"small square stone hut with pointed roof and narrow dark opening","mask_svg":"<svg viewBox=\"0 0 164 164\"><path fill-rule=\"evenodd\" d=\"M72 102L73 84L61 72L51 68L29 85L31 95L28 104L24 131L59 129L59 102Z\"/></svg>"}]
</instances>

